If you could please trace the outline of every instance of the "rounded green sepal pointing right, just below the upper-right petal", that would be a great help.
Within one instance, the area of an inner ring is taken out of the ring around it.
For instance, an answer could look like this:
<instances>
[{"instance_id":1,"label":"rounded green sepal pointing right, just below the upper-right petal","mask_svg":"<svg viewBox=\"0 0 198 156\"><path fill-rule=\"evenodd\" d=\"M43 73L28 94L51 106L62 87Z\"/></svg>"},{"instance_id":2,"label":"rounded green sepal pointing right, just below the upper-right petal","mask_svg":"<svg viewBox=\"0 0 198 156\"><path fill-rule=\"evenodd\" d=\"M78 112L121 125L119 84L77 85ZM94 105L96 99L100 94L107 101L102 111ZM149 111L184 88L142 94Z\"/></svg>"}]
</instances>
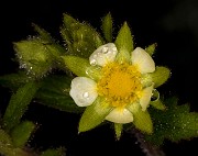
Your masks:
<instances>
[{"instance_id":1,"label":"rounded green sepal pointing right, just below the upper-right petal","mask_svg":"<svg viewBox=\"0 0 198 156\"><path fill-rule=\"evenodd\" d=\"M154 88L157 88L167 81L170 76L170 70L164 66L157 66L155 71L150 74L150 76L154 82Z\"/></svg>"}]
</instances>

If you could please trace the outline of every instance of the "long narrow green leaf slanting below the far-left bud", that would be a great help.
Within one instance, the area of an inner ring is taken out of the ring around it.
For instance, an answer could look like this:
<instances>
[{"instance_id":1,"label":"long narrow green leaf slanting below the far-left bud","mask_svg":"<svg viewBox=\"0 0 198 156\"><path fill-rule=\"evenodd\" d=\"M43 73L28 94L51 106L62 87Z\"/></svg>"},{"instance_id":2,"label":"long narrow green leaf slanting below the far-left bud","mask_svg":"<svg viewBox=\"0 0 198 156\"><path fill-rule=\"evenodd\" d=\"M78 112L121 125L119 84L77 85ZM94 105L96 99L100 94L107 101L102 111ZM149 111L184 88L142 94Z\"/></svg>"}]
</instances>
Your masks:
<instances>
[{"instance_id":1,"label":"long narrow green leaf slanting below the far-left bud","mask_svg":"<svg viewBox=\"0 0 198 156\"><path fill-rule=\"evenodd\" d=\"M34 98L38 87L40 85L37 82L30 81L20 87L18 91L12 94L3 115L3 126L6 130L9 131L20 123L22 115L26 111L31 100Z\"/></svg>"}]
</instances>

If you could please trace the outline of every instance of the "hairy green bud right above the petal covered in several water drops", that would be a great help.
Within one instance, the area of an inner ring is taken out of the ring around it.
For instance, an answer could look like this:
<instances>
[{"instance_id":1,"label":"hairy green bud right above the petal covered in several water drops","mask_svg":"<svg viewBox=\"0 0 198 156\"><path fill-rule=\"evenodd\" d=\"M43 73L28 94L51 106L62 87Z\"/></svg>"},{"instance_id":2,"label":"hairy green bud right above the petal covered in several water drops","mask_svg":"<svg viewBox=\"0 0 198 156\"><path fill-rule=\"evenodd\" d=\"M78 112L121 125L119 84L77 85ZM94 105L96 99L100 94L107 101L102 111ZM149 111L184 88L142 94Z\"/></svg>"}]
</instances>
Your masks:
<instances>
[{"instance_id":1,"label":"hairy green bud right above the petal covered in several water drops","mask_svg":"<svg viewBox=\"0 0 198 156\"><path fill-rule=\"evenodd\" d=\"M68 53L84 58L88 58L97 47L105 44L103 38L91 25L68 14L64 14L61 34Z\"/></svg>"}]
</instances>

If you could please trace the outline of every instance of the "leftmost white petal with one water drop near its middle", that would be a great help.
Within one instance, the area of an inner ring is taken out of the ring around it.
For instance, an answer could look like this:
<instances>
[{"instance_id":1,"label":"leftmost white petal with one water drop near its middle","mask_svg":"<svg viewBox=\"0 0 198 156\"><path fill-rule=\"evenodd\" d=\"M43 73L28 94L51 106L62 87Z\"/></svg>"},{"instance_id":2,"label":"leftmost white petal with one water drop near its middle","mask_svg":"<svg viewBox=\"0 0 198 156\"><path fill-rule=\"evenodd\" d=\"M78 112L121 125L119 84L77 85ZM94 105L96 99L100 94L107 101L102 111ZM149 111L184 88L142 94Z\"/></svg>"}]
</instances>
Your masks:
<instances>
[{"instance_id":1,"label":"leftmost white petal with one water drop near its middle","mask_svg":"<svg viewBox=\"0 0 198 156\"><path fill-rule=\"evenodd\" d=\"M78 107L87 107L98 97L97 83L86 77L76 77L72 80L70 97Z\"/></svg>"}]
</instances>

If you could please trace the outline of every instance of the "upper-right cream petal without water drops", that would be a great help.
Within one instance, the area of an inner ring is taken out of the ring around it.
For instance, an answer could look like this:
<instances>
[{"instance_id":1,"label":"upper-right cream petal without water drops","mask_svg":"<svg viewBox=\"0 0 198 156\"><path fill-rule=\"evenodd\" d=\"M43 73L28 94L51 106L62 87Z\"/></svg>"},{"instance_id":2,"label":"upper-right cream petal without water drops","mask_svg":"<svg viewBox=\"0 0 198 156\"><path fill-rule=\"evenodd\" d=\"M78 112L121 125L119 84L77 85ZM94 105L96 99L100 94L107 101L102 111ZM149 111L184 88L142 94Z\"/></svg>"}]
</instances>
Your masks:
<instances>
[{"instance_id":1,"label":"upper-right cream petal without water drops","mask_svg":"<svg viewBox=\"0 0 198 156\"><path fill-rule=\"evenodd\" d=\"M132 52L132 64L139 67L141 74L153 73L155 70L153 58L141 47L136 47Z\"/></svg>"}]
</instances>

